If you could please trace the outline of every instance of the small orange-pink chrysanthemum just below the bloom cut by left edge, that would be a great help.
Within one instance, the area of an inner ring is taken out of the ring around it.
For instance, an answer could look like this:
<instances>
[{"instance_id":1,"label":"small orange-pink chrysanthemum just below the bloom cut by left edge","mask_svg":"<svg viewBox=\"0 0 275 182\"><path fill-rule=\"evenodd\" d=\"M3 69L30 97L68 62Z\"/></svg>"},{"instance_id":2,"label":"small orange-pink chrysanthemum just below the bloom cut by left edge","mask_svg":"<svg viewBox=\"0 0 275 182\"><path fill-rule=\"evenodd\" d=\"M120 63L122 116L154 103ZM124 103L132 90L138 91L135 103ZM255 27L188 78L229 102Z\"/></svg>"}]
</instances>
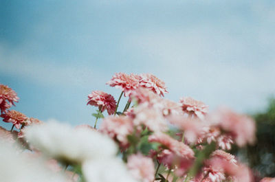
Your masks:
<instances>
[{"instance_id":1,"label":"small orange-pink chrysanthemum just below the bloom cut by left edge","mask_svg":"<svg viewBox=\"0 0 275 182\"><path fill-rule=\"evenodd\" d=\"M17 129L20 128L21 124L25 124L28 120L28 117L26 117L23 113L14 110L8 111L0 116L3 117L3 122L12 123Z\"/></svg>"}]
</instances>

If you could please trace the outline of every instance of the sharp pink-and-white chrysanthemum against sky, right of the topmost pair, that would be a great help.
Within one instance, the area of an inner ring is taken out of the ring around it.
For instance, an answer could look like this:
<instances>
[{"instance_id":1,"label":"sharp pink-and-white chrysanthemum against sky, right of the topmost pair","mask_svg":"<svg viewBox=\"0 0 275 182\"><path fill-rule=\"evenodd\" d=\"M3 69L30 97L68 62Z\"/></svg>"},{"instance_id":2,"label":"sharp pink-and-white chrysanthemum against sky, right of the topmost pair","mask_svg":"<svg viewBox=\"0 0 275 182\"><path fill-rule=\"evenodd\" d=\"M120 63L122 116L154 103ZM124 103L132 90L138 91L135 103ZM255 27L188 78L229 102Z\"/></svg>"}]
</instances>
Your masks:
<instances>
[{"instance_id":1,"label":"sharp pink-and-white chrysanthemum against sky, right of the topmost pair","mask_svg":"<svg viewBox=\"0 0 275 182\"><path fill-rule=\"evenodd\" d=\"M208 113L208 106L199 100L193 98L181 98L179 101L181 108L188 115L196 115L200 119L203 119L206 113Z\"/></svg>"}]
</instances>

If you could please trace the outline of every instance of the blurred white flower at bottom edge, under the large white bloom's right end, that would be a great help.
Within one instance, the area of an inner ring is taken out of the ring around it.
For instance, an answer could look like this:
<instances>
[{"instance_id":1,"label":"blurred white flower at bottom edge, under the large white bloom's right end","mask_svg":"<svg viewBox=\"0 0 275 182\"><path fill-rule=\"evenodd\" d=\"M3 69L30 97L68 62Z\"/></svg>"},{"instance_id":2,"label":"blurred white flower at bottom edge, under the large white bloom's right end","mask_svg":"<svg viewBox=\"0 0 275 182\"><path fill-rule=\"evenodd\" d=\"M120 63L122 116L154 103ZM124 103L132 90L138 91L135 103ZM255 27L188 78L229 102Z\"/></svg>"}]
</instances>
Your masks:
<instances>
[{"instance_id":1,"label":"blurred white flower at bottom edge, under the large white bloom's right end","mask_svg":"<svg viewBox=\"0 0 275 182\"><path fill-rule=\"evenodd\" d=\"M87 182L137 182L120 159L88 161L82 169Z\"/></svg>"}]
</instances>

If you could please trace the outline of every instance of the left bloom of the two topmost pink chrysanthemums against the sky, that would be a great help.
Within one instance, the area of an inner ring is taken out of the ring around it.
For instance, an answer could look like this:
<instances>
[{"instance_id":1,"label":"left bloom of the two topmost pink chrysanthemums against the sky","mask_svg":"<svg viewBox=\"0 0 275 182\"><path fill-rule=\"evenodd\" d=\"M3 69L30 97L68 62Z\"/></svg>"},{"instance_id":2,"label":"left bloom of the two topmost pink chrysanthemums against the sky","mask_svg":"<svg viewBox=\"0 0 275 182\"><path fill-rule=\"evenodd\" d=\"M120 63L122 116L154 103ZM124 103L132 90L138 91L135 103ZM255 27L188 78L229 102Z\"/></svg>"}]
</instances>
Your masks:
<instances>
[{"instance_id":1,"label":"left bloom of the two topmost pink chrysanthemums against the sky","mask_svg":"<svg viewBox=\"0 0 275 182\"><path fill-rule=\"evenodd\" d=\"M106 84L109 84L111 87L121 89L124 91L125 96L129 96L131 92L140 87L140 76L133 73L130 75L126 73L115 73L113 78L111 78L111 80L109 80Z\"/></svg>"}]
</instances>

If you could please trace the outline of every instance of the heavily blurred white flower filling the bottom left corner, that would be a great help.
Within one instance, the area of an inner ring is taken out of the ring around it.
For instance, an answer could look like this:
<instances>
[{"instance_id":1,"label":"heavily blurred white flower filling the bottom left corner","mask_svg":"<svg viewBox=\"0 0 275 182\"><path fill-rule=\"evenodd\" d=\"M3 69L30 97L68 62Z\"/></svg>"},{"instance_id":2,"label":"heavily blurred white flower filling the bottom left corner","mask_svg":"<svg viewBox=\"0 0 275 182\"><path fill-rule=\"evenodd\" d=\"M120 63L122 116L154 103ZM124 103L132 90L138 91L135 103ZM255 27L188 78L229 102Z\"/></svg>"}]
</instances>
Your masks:
<instances>
[{"instance_id":1,"label":"heavily blurred white flower filling the bottom left corner","mask_svg":"<svg viewBox=\"0 0 275 182\"><path fill-rule=\"evenodd\" d=\"M51 172L42 159L32 159L14 150L14 144L5 144L0 139L1 182L65 182L61 174Z\"/></svg>"}]
</instances>

